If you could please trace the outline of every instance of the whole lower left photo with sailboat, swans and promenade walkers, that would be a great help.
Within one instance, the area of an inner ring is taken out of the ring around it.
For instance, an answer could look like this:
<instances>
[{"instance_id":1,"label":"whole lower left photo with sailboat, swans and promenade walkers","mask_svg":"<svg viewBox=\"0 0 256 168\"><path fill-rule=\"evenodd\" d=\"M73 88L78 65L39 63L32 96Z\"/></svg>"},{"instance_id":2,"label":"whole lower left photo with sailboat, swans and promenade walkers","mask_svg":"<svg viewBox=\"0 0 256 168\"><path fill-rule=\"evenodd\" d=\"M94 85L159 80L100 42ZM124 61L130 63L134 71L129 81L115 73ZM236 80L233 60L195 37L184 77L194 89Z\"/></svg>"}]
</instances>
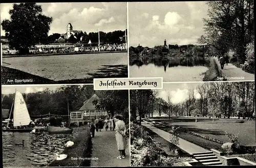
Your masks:
<instances>
[{"instance_id":1,"label":"whole lower left photo with sailboat, swans and promenade walkers","mask_svg":"<svg viewBox=\"0 0 256 168\"><path fill-rule=\"evenodd\" d=\"M3 86L3 167L130 166L128 107L128 90Z\"/></svg>"}]
</instances>

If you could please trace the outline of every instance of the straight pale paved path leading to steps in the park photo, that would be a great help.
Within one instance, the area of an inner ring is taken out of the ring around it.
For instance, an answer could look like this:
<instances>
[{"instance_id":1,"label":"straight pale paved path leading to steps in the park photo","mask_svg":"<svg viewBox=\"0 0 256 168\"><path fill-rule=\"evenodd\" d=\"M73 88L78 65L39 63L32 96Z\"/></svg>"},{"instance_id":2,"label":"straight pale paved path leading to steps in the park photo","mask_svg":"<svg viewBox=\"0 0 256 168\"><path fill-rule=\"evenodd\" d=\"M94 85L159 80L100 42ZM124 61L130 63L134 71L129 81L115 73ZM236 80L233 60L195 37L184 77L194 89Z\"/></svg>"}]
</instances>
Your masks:
<instances>
[{"instance_id":1,"label":"straight pale paved path leading to steps in the park photo","mask_svg":"<svg viewBox=\"0 0 256 168\"><path fill-rule=\"evenodd\" d=\"M147 127L148 129L151 129L165 140L170 141L170 133L160 130L154 126L151 126L150 124L146 124L145 122L141 122L141 125ZM208 152L208 150L181 138L179 138L179 145L177 145L177 147L179 147L181 150L187 152L190 155L198 152Z\"/></svg>"}]
</instances>

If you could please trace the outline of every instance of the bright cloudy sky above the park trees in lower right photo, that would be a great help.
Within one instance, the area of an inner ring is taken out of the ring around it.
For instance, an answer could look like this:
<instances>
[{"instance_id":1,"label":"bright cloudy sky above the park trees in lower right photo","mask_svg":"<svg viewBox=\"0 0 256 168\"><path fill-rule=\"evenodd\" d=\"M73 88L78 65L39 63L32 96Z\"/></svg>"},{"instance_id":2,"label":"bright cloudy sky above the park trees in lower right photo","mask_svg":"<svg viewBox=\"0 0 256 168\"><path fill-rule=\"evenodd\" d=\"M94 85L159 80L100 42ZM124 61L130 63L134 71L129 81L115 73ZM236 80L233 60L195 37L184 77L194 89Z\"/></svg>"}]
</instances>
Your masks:
<instances>
[{"instance_id":1,"label":"bright cloudy sky above the park trees in lower right photo","mask_svg":"<svg viewBox=\"0 0 256 168\"><path fill-rule=\"evenodd\" d=\"M172 97L172 103L178 104L188 99L189 90L194 90L196 99L200 99L201 95L197 91L197 87L203 83L164 83L163 89L158 91L158 97L167 101L168 95Z\"/></svg>"}]
</instances>

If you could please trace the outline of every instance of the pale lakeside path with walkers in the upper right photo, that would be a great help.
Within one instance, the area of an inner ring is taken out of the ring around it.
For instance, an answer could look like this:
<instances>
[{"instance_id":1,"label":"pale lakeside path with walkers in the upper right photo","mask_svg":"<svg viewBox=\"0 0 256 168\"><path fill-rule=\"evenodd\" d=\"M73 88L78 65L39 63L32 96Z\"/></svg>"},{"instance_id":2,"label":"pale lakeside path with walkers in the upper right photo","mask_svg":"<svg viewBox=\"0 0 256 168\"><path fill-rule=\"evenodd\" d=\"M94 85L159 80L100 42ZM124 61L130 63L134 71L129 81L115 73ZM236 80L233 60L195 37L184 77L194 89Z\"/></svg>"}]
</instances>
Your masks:
<instances>
[{"instance_id":1,"label":"pale lakeside path with walkers in the upper right photo","mask_svg":"<svg viewBox=\"0 0 256 168\"><path fill-rule=\"evenodd\" d=\"M218 61L218 58L215 57L216 62L218 63L219 69L221 69L221 64ZM254 80L254 74L246 73L246 71L242 70L241 68L238 68L237 66L234 66L231 63L228 63L228 65L224 65L224 69L221 69L222 71L222 77L227 77L227 81L249 81ZM232 79L230 77L242 77L243 79Z\"/></svg>"}]
</instances>

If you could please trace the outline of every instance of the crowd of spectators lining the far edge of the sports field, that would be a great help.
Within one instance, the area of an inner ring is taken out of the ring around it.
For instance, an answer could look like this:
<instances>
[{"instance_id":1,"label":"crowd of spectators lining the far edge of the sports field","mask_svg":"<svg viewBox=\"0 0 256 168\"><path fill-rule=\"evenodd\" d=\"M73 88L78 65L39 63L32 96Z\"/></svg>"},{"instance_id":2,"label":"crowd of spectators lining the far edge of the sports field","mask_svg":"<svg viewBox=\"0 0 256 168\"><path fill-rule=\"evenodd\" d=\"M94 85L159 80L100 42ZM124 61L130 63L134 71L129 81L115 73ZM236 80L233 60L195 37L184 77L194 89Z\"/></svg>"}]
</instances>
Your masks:
<instances>
[{"instance_id":1,"label":"crowd of spectators lining the far edge of the sports field","mask_svg":"<svg viewBox=\"0 0 256 168\"><path fill-rule=\"evenodd\" d=\"M111 52L111 51L126 51L126 43L122 44L102 44L100 49L98 46L60 46L53 47L48 45L47 47L34 47L29 50L30 54L54 54L54 53L77 53L77 52ZM3 49L3 55L16 55L16 50Z\"/></svg>"}]
</instances>

